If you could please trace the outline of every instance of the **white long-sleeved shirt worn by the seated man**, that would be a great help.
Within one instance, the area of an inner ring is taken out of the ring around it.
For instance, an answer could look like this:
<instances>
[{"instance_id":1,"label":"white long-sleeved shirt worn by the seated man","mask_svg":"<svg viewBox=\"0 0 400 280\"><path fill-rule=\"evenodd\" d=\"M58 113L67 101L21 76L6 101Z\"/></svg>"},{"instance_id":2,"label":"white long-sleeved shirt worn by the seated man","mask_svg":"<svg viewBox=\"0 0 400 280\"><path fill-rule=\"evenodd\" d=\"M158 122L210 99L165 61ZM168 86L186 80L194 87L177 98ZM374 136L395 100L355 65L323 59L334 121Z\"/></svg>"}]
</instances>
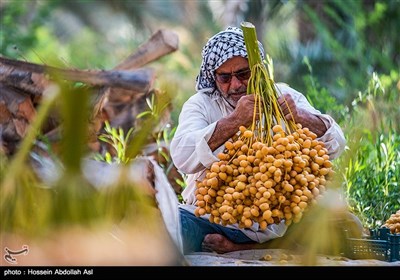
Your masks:
<instances>
[{"instance_id":1,"label":"white long-sleeved shirt worn by the seated man","mask_svg":"<svg viewBox=\"0 0 400 280\"><path fill-rule=\"evenodd\" d=\"M277 84L277 92L289 93L297 106L309 110L323 120L328 130L317 139L325 143L330 159L336 158L344 150L346 140L341 128L332 117L314 109L303 94L286 84ZM187 187L182 192L185 204L195 205L196 180L201 180L205 170L210 168L213 162L219 160L216 155L223 151L224 146L212 152L207 141L213 134L217 121L232 111L233 108L219 93L208 95L198 92L183 105L179 124L171 141L170 153L178 170L187 175ZM194 207L189 207L189 209L194 210ZM238 228L237 225L232 226ZM267 230L261 231L256 223L251 229L240 230L254 241L265 242L282 236L286 229L286 225L281 223L269 225Z\"/></svg>"}]
</instances>

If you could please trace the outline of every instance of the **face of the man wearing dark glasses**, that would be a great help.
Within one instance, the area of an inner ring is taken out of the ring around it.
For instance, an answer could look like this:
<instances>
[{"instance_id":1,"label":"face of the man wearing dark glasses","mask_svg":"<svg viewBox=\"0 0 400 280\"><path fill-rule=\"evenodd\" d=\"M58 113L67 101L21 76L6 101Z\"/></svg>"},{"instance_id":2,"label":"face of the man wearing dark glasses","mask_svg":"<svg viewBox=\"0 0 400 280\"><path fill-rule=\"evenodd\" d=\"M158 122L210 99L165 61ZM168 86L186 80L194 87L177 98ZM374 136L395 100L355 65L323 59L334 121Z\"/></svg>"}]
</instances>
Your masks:
<instances>
[{"instance_id":1,"label":"face of the man wearing dark glasses","mask_svg":"<svg viewBox=\"0 0 400 280\"><path fill-rule=\"evenodd\" d=\"M247 82L250 78L247 58L234 56L225 61L215 71L215 82L224 98L234 107L239 99L247 94Z\"/></svg>"}]
</instances>

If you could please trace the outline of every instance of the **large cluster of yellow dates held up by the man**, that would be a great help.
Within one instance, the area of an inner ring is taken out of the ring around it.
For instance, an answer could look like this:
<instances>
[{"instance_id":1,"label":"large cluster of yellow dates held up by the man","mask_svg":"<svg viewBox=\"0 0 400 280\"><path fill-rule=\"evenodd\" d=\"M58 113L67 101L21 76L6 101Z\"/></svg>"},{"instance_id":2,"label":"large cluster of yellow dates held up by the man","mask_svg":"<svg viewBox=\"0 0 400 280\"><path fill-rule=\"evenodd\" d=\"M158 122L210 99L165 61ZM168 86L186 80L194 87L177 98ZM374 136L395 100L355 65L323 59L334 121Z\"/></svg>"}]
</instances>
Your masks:
<instances>
[{"instance_id":1,"label":"large cluster of yellow dates held up by the man","mask_svg":"<svg viewBox=\"0 0 400 280\"><path fill-rule=\"evenodd\" d=\"M286 134L272 128L272 143L263 143L245 127L225 143L220 159L197 182L196 216L213 223L261 229L269 224L299 222L316 203L333 175L324 144L308 128ZM267 141L264 141L267 142Z\"/></svg>"}]
</instances>

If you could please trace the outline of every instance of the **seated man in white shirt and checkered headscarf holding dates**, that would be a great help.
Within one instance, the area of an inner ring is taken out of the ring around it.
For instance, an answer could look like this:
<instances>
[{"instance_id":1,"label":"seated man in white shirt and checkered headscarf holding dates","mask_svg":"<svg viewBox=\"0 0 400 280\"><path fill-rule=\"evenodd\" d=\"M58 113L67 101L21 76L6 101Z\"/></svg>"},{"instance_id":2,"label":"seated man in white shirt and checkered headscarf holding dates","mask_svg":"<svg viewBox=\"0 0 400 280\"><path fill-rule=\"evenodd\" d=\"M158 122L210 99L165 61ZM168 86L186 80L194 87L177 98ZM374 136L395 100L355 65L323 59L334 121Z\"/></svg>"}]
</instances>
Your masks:
<instances>
[{"instance_id":1,"label":"seated man in white shirt and checkered headscarf holding dates","mask_svg":"<svg viewBox=\"0 0 400 280\"><path fill-rule=\"evenodd\" d=\"M264 58L264 49L259 42ZM287 226L282 221L266 230L255 225L240 229L238 225L211 223L205 216L196 217L196 181L219 159L224 143L253 121L254 95L247 94L251 75L247 51L240 28L228 27L211 37L202 51L202 64L196 79L196 94L183 105L179 124L171 142L170 152L175 166L187 175L187 187L182 192L180 221L184 252L215 251L224 253L251 249L257 244L282 237ZM277 85L282 93L278 102L285 118L308 127L317 140L325 143L330 159L340 155L345 146L341 128L332 117L314 109L307 99L287 85ZM286 102L284 101L286 99ZM292 112L292 115L289 113Z\"/></svg>"}]
</instances>

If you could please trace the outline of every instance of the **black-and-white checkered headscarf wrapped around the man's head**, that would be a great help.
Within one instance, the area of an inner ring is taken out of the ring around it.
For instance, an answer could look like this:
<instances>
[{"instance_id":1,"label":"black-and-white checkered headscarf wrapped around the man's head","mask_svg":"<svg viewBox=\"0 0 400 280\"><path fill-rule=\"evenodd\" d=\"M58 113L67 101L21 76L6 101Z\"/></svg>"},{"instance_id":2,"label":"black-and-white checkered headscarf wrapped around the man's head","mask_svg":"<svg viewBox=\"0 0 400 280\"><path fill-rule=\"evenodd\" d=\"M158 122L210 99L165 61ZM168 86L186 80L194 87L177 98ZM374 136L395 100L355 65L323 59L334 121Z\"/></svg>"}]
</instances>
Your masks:
<instances>
[{"instance_id":1,"label":"black-and-white checkered headscarf wrapped around the man's head","mask_svg":"<svg viewBox=\"0 0 400 280\"><path fill-rule=\"evenodd\" d=\"M264 48L258 42L262 59ZM200 73L196 78L196 91L211 94L216 89L215 70L233 56L247 57L243 31L228 27L211 37L203 47Z\"/></svg>"}]
</instances>

